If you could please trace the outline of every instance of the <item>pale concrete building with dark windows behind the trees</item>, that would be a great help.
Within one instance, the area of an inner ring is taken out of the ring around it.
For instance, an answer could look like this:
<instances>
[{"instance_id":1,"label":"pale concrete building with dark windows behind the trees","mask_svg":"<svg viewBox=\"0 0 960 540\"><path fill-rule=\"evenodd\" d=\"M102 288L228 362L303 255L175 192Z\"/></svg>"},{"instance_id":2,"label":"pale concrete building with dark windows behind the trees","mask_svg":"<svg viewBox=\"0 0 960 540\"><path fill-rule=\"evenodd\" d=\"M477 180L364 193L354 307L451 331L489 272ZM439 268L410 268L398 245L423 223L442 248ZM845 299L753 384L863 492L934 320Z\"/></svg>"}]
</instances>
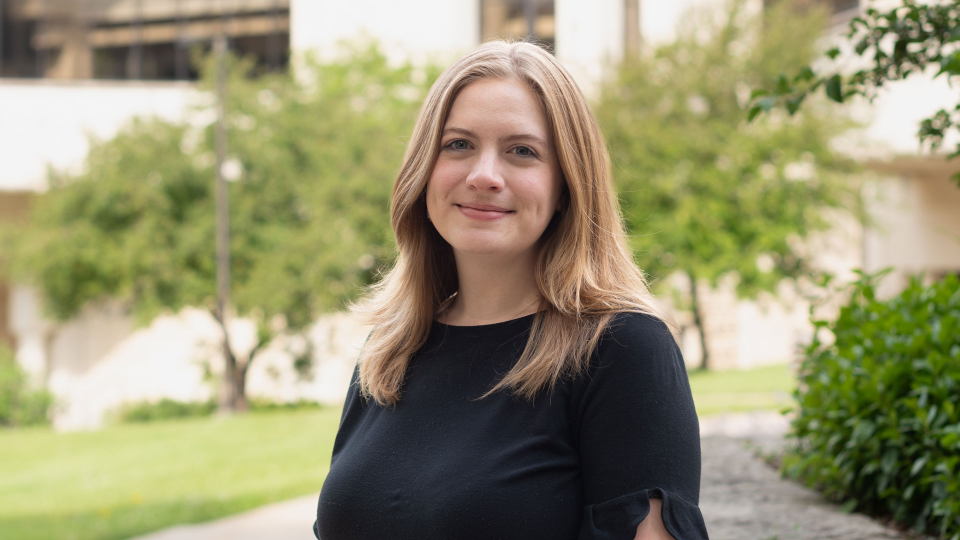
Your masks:
<instances>
[{"instance_id":1,"label":"pale concrete building with dark windows behind the trees","mask_svg":"<svg viewBox=\"0 0 960 540\"><path fill-rule=\"evenodd\" d=\"M375 38L396 60L449 61L490 37L532 37L553 45L590 93L605 66L626 52L675 37L685 9L721 2L0 0L0 219L25 213L30 193L44 189L46 164L82 167L87 134L111 136L134 115L186 117L203 96L179 81L195 75L182 55L220 28L231 29L234 47L250 51L264 68L307 52L333 55L343 39ZM862 9L856 0L830 3L836 25ZM82 20L66 9L80 4L91 8ZM761 9L763 2L755 4ZM268 46L272 37L282 43ZM917 122L950 99L955 103L943 82L917 78L890 86L872 107L858 110L868 127L845 147L869 164L875 225L838 220L832 233L815 240L825 266L844 274L893 265L891 292L917 271L931 277L960 272L960 189L948 182L960 161L925 156L915 139ZM790 361L809 335L807 305L789 290L758 302L737 301L729 285L701 296L715 367ZM245 322L235 324L234 335L243 340ZM0 340L60 397L57 424L64 429L99 426L124 401L209 396L201 364L216 357L208 344L218 333L208 315L190 309L143 329L134 329L115 305L90 306L75 320L54 324L42 316L34 291L0 283ZM297 379L283 344L276 344L253 364L251 395L339 402L366 330L331 315L310 336L318 351L314 379ZM684 332L682 346L687 361L697 363L696 331Z\"/></svg>"}]
</instances>

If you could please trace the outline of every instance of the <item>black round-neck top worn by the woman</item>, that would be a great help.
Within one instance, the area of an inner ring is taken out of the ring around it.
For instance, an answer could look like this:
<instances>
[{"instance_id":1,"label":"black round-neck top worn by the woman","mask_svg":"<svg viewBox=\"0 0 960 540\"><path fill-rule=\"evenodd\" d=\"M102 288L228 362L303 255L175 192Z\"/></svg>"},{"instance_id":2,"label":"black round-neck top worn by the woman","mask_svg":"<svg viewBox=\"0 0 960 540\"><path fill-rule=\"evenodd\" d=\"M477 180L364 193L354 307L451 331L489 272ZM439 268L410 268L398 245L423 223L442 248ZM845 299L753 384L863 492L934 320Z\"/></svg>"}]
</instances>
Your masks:
<instances>
[{"instance_id":1,"label":"black round-neck top worn by the woman","mask_svg":"<svg viewBox=\"0 0 960 540\"><path fill-rule=\"evenodd\" d=\"M650 497L676 540L707 538L700 430L666 325L617 315L588 376L533 404L477 400L516 363L533 317L434 323L393 407L360 397L354 372L318 538L628 540Z\"/></svg>"}]
</instances>

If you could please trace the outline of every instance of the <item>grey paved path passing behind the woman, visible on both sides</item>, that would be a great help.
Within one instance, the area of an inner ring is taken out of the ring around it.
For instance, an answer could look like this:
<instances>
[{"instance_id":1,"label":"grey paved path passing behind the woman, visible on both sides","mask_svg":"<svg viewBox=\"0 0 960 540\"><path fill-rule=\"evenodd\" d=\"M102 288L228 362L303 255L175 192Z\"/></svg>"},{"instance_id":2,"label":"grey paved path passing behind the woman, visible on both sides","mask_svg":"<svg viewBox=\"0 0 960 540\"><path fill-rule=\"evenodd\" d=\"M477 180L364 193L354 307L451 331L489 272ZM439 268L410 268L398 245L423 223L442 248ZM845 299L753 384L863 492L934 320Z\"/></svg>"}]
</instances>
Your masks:
<instances>
[{"instance_id":1,"label":"grey paved path passing behind the woman, visible on both sides","mask_svg":"<svg viewBox=\"0 0 960 540\"><path fill-rule=\"evenodd\" d=\"M780 479L753 448L774 450L787 423L777 413L701 422L700 508L711 540L892 540L900 533L844 514L815 491ZM201 525L167 528L135 540L310 540L317 495L269 504Z\"/></svg>"}]
</instances>

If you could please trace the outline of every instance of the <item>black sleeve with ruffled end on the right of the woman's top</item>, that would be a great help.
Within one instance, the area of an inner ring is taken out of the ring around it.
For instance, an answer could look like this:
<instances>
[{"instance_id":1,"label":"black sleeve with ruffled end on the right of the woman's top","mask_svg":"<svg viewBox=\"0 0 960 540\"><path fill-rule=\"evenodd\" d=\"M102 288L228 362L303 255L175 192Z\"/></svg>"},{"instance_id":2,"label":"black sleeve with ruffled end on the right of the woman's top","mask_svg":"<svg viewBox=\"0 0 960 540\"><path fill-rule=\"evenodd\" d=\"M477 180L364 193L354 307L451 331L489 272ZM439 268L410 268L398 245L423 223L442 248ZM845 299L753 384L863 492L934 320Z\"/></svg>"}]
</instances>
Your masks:
<instances>
[{"instance_id":1,"label":"black sleeve with ruffled end on the right of the woman's top","mask_svg":"<svg viewBox=\"0 0 960 540\"><path fill-rule=\"evenodd\" d=\"M633 539L662 501L676 540L706 540L700 498L700 429L684 360L666 325L618 315L597 346L573 402L583 472L581 540Z\"/></svg>"}]
</instances>

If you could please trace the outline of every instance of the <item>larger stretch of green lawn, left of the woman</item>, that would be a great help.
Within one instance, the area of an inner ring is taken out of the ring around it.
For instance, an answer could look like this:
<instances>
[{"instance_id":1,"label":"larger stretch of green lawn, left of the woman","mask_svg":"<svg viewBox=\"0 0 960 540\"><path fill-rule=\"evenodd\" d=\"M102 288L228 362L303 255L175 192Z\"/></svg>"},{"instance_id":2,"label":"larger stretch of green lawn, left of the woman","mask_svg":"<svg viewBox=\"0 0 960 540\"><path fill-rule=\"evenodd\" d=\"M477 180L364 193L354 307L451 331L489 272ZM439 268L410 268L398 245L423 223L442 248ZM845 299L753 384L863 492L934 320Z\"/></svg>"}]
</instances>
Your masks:
<instances>
[{"instance_id":1,"label":"larger stretch of green lawn, left of the woman","mask_svg":"<svg viewBox=\"0 0 960 540\"><path fill-rule=\"evenodd\" d=\"M127 538L319 493L339 408L0 430L0 538Z\"/></svg>"}]
</instances>

